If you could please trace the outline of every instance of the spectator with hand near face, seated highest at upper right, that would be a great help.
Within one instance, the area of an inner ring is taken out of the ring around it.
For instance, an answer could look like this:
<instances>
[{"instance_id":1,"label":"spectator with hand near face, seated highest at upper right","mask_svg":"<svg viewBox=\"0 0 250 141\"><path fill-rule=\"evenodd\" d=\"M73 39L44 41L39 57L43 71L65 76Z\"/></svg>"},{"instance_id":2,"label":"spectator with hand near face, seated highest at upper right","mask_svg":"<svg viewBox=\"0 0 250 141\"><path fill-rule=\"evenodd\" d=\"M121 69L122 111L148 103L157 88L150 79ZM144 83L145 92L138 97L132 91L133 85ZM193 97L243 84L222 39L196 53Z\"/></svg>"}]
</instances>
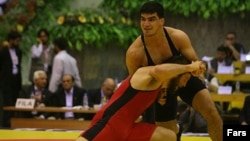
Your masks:
<instances>
[{"instance_id":1,"label":"spectator with hand near face, seated highest at upper right","mask_svg":"<svg viewBox=\"0 0 250 141\"><path fill-rule=\"evenodd\" d=\"M236 33L230 31L226 34L224 43L220 47L225 47L227 57L233 61L240 61L240 54L246 53L242 44L236 41Z\"/></svg>"}]
</instances>

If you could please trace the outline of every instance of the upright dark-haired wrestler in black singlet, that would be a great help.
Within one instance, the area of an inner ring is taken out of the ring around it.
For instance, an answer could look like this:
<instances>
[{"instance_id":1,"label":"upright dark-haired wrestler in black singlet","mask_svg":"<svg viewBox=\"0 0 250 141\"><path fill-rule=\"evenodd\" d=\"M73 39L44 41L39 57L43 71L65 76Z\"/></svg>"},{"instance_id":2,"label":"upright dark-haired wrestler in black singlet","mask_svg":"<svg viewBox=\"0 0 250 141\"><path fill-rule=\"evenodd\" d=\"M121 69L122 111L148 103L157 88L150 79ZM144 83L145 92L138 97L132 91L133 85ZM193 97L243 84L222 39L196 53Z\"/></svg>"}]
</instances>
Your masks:
<instances>
[{"instance_id":1,"label":"upright dark-haired wrestler in black singlet","mask_svg":"<svg viewBox=\"0 0 250 141\"><path fill-rule=\"evenodd\" d=\"M130 75L141 66L161 64L171 56L182 55L190 61L199 59L186 33L172 27L164 27L164 22L164 9L161 4L150 1L142 6L140 26L143 33L130 45L126 53L126 65ZM178 90L178 94L206 119L211 139L221 141L222 119L203 82L199 78L192 77L185 88ZM151 108L151 112L145 112L149 117L143 118L149 122L155 120L157 125L177 133L176 95L167 93L166 99L156 102L154 106L155 111Z\"/></svg>"}]
</instances>

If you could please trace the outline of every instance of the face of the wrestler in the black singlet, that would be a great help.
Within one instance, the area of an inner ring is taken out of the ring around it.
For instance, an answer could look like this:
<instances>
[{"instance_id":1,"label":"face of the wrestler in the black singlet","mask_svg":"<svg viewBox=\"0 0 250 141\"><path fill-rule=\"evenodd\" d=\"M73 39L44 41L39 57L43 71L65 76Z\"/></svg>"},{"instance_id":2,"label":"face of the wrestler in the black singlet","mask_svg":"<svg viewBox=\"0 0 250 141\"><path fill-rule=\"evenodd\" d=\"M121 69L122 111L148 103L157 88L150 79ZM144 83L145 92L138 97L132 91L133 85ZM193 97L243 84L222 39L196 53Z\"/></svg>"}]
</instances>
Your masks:
<instances>
[{"instance_id":1,"label":"face of the wrestler in the black singlet","mask_svg":"<svg viewBox=\"0 0 250 141\"><path fill-rule=\"evenodd\" d=\"M158 31L162 31L164 19L159 18L156 12L153 14L142 13L140 24L144 36L153 36Z\"/></svg>"}]
</instances>

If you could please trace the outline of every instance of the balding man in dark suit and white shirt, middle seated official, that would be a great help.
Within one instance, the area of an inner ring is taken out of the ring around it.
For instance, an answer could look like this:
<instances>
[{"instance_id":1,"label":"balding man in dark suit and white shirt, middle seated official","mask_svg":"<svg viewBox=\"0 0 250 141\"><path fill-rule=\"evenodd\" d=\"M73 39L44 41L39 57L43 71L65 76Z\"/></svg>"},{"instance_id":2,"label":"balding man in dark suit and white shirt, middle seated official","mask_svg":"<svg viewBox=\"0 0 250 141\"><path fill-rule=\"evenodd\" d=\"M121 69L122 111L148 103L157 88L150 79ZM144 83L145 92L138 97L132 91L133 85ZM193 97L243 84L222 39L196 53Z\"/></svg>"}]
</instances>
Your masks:
<instances>
[{"instance_id":1,"label":"balding man in dark suit and white shirt, middle seated official","mask_svg":"<svg viewBox=\"0 0 250 141\"><path fill-rule=\"evenodd\" d=\"M66 74L62 77L62 87L55 93L56 106L65 108L81 107L83 106L84 93L86 93L85 89L75 86L74 77ZM56 118L83 119L83 114L73 112L57 113Z\"/></svg>"}]
</instances>

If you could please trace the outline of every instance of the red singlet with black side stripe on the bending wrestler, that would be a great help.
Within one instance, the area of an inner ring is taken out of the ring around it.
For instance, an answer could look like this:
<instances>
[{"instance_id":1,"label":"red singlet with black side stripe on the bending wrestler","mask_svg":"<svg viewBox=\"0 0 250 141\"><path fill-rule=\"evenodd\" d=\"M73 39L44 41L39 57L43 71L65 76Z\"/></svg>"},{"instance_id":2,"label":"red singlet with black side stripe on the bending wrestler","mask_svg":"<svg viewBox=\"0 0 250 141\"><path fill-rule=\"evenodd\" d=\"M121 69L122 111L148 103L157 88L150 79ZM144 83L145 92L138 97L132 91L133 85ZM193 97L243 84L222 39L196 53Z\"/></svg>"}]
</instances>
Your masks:
<instances>
[{"instance_id":1,"label":"red singlet with black side stripe on the bending wrestler","mask_svg":"<svg viewBox=\"0 0 250 141\"><path fill-rule=\"evenodd\" d=\"M155 101L159 89L141 91L126 78L109 102L94 116L90 127L81 136L89 141L149 141L156 125L135 123L135 120Z\"/></svg>"}]
</instances>

